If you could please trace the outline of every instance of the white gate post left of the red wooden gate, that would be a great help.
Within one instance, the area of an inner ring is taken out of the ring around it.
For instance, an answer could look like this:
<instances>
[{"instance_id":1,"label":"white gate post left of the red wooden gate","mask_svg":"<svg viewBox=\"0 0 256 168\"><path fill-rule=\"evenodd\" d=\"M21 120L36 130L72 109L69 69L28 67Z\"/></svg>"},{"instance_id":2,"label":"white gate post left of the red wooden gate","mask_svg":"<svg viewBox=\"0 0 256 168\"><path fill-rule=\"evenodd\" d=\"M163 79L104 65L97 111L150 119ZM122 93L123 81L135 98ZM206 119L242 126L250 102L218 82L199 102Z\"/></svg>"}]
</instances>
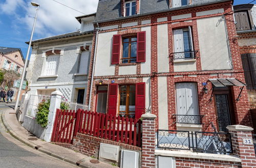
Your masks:
<instances>
[{"instance_id":1,"label":"white gate post left of the red wooden gate","mask_svg":"<svg viewBox=\"0 0 256 168\"><path fill-rule=\"evenodd\" d=\"M46 127L46 134L44 136L44 140L46 142L51 141L54 120L56 116L56 109L60 107L61 96L62 96L62 93L60 91L52 92L51 102L49 107L48 124Z\"/></svg>"}]
</instances>

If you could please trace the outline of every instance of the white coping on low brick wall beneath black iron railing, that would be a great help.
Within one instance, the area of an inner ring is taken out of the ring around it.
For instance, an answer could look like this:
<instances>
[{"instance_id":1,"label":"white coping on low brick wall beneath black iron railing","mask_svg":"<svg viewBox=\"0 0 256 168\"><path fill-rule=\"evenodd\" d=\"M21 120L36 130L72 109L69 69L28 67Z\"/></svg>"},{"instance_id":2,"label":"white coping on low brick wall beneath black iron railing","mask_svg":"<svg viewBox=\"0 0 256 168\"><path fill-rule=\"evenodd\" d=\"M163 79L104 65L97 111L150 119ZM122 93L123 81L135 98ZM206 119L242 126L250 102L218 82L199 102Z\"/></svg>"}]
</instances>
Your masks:
<instances>
[{"instance_id":1,"label":"white coping on low brick wall beneath black iron railing","mask_svg":"<svg viewBox=\"0 0 256 168\"><path fill-rule=\"evenodd\" d=\"M232 161L241 162L242 160L235 155L220 155L211 153L197 153L189 151L164 151L155 150L155 155L169 156L169 157L184 157L184 158L195 158L195 159L209 159L209 160L222 160L222 161Z\"/></svg>"}]
</instances>

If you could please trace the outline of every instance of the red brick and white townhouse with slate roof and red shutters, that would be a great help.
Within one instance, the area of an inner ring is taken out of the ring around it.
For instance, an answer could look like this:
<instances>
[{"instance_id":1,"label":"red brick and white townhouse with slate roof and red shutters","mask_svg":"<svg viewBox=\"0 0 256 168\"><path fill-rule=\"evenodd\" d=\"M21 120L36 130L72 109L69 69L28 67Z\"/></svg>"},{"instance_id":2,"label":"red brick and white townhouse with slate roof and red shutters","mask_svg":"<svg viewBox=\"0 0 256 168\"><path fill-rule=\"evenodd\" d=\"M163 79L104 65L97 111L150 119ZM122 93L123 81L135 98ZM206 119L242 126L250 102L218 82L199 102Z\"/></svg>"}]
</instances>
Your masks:
<instances>
[{"instance_id":1,"label":"red brick and white townhouse with slate roof and red shutters","mask_svg":"<svg viewBox=\"0 0 256 168\"><path fill-rule=\"evenodd\" d=\"M100 0L86 104L156 129L252 126L230 0Z\"/></svg>"}]
</instances>

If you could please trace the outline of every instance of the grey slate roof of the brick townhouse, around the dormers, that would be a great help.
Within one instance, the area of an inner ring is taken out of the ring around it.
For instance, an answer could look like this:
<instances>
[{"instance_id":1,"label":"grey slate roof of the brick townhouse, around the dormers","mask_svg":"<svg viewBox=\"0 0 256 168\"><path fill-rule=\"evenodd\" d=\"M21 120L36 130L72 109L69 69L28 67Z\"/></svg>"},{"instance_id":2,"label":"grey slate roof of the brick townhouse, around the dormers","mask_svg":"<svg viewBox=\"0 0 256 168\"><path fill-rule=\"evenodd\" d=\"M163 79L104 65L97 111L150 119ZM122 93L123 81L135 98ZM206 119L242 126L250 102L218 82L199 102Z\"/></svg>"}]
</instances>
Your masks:
<instances>
[{"instance_id":1,"label":"grey slate roof of the brick townhouse, around the dormers","mask_svg":"<svg viewBox=\"0 0 256 168\"><path fill-rule=\"evenodd\" d=\"M121 16L121 0L99 0L96 12L95 22L105 22L118 20L123 18L136 17L140 15L160 13L165 11L178 10L183 8L191 8L206 4L220 3L230 0L192 0L192 4L188 6L169 8L169 0L140 0L140 14L122 17Z\"/></svg>"}]
</instances>

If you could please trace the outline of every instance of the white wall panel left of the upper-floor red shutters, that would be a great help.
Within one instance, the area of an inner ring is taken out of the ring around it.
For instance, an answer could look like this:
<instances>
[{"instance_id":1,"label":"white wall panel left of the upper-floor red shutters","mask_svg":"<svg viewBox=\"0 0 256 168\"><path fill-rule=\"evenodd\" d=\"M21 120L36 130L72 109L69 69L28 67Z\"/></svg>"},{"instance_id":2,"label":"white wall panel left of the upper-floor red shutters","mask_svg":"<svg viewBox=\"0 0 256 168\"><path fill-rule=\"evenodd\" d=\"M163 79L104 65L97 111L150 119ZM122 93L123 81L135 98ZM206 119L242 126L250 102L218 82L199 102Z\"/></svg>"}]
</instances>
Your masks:
<instances>
[{"instance_id":1,"label":"white wall panel left of the upper-floor red shutters","mask_svg":"<svg viewBox=\"0 0 256 168\"><path fill-rule=\"evenodd\" d=\"M117 31L99 33L94 76L115 75L115 65L111 65L112 39Z\"/></svg>"}]
</instances>

